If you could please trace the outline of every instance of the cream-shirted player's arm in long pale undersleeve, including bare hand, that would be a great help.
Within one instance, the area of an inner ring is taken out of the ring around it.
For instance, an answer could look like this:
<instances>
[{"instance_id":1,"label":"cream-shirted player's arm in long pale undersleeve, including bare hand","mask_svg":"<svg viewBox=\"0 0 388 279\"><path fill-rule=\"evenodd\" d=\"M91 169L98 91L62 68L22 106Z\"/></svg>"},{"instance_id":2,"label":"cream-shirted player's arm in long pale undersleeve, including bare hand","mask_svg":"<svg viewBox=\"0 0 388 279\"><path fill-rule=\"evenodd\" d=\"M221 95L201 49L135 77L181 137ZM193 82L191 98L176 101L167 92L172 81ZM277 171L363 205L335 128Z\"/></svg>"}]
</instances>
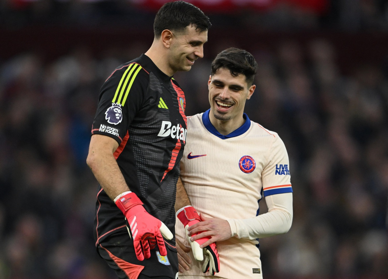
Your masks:
<instances>
[{"instance_id":1,"label":"cream-shirted player's arm in long pale undersleeve, including bare hand","mask_svg":"<svg viewBox=\"0 0 388 279\"><path fill-rule=\"evenodd\" d=\"M196 223L187 230L191 240L201 237L211 237L201 246L209 245L215 241L223 241L230 237L256 239L276 234L284 234L291 227L293 218L292 193L275 194L265 197L268 212L249 219L205 218L203 222ZM202 231L202 232L201 232ZM201 232L197 234L198 232Z\"/></svg>"}]
</instances>

